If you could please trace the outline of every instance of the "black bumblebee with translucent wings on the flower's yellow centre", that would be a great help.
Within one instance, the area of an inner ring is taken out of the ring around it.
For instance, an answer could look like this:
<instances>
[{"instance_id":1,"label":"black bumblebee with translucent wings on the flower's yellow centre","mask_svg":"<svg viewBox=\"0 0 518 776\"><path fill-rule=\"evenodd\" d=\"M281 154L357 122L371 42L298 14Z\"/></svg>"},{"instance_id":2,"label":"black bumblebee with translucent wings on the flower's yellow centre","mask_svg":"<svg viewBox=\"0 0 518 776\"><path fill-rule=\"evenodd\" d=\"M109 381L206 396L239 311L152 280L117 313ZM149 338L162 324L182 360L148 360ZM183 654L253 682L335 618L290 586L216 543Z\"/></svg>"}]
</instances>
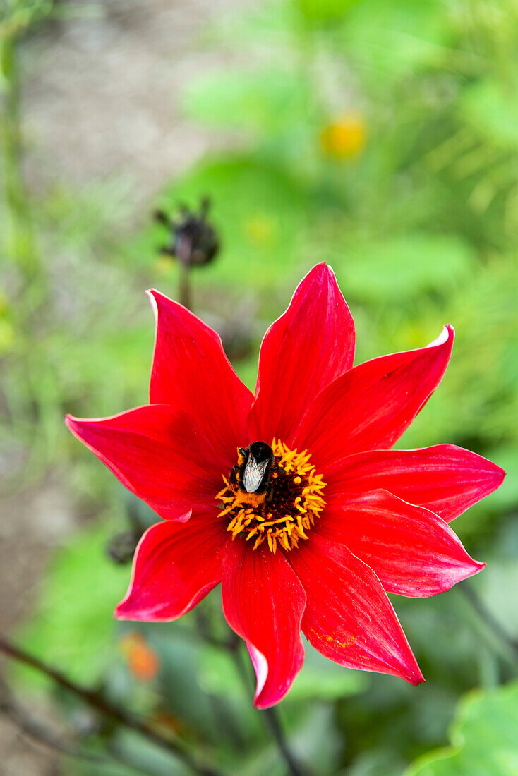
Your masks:
<instances>
[{"instance_id":1,"label":"black bumblebee with translucent wings on the flower's yellow centre","mask_svg":"<svg viewBox=\"0 0 518 776\"><path fill-rule=\"evenodd\" d=\"M267 501L273 462L273 450L266 442L252 442L246 448L238 448L238 462L232 467L229 482L238 489L239 501L254 507Z\"/></svg>"}]
</instances>

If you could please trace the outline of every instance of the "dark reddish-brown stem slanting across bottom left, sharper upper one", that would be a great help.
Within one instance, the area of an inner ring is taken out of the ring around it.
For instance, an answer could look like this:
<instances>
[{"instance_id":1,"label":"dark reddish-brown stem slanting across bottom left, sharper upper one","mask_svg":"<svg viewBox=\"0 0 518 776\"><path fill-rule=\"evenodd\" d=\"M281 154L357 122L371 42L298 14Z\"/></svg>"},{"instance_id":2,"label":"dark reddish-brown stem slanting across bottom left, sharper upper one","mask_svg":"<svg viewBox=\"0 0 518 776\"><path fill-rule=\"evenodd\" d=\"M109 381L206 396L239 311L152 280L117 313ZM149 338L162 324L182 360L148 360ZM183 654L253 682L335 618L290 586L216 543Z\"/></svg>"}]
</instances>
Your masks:
<instances>
[{"instance_id":1,"label":"dark reddish-brown stem slanting across bottom left, sharper upper one","mask_svg":"<svg viewBox=\"0 0 518 776\"><path fill-rule=\"evenodd\" d=\"M2 634L0 634L0 652L12 658L12 660L18 660L20 663L35 668L40 671L41 674L45 674L52 679L52 681L61 688L68 690L73 695L77 695L78 698L82 698L86 704L95 708L96 711L103 716L113 719L113 722L116 722L123 727L134 730L135 733L144 736L144 738L155 743L158 747L162 747L162 749L174 754L194 773L200 774L200 776L222 776L220 771L215 771L214 768L207 767L195 760L183 744L162 736L162 734L158 733L158 731L149 725L148 722L141 721L133 715L128 714L122 708L111 705L98 691L82 687L82 685L71 681L54 667L47 665L47 663L43 663L42 660L39 660L37 657L26 653L24 650L12 644L8 639L5 639L5 636L2 636Z\"/></svg>"}]
</instances>

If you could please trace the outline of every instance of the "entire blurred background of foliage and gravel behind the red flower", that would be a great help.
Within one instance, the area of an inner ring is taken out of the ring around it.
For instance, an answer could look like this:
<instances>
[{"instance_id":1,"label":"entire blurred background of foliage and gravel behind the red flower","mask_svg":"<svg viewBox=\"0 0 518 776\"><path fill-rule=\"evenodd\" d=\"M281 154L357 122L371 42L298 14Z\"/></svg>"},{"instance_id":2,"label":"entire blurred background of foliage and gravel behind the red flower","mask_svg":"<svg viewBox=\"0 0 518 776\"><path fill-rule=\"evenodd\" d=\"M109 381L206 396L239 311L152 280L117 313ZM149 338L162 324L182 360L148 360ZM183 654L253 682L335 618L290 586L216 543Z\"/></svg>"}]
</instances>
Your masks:
<instances>
[{"instance_id":1,"label":"entire blurred background of foliage and gravel behind the red flower","mask_svg":"<svg viewBox=\"0 0 518 776\"><path fill-rule=\"evenodd\" d=\"M457 329L400 445L454 442L508 472L454 525L488 563L471 592L392 597L427 683L308 646L280 707L294 752L313 774L516 776L518 2L0 0L0 47L2 634L228 774L286 772L207 643L217 590L178 623L113 621L156 516L63 424L146 402L144 289L179 298L165 222L208 197L221 249L193 268L191 303L245 383L329 262L357 362ZM106 755L60 755L4 714L5 776L189 772L40 674L2 673L23 714Z\"/></svg>"}]
</instances>

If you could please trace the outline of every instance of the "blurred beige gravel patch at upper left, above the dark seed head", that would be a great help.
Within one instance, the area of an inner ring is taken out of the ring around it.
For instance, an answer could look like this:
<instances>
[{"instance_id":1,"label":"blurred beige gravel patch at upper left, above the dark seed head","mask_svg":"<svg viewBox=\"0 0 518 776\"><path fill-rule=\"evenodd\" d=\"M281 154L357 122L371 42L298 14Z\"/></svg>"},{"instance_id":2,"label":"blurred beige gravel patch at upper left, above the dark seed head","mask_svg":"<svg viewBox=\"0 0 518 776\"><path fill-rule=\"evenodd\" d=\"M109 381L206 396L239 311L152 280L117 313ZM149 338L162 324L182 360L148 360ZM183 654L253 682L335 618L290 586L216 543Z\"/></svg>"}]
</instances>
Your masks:
<instances>
[{"instance_id":1,"label":"blurred beige gravel patch at upper left, above the dark seed head","mask_svg":"<svg viewBox=\"0 0 518 776\"><path fill-rule=\"evenodd\" d=\"M179 114L179 87L193 72L234 61L207 51L211 19L258 4L105 0L101 9L91 5L99 18L60 23L52 40L43 31L28 46L23 106L33 184L62 178L82 186L119 172L145 197L221 147L221 138Z\"/></svg>"}]
</instances>

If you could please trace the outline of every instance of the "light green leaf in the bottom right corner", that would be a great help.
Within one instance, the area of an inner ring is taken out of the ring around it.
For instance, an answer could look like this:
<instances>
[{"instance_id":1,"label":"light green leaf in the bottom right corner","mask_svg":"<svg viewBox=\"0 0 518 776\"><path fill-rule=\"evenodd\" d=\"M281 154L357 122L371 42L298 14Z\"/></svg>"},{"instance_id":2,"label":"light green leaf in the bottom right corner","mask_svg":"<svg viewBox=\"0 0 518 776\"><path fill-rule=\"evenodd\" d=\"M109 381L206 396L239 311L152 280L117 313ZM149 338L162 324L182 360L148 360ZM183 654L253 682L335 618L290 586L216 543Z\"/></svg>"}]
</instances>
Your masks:
<instances>
[{"instance_id":1,"label":"light green leaf in the bottom right corner","mask_svg":"<svg viewBox=\"0 0 518 776\"><path fill-rule=\"evenodd\" d=\"M469 693L450 738L450 747L419 757L405 776L516 776L518 681Z\"/></svg>"}]
</instances>

